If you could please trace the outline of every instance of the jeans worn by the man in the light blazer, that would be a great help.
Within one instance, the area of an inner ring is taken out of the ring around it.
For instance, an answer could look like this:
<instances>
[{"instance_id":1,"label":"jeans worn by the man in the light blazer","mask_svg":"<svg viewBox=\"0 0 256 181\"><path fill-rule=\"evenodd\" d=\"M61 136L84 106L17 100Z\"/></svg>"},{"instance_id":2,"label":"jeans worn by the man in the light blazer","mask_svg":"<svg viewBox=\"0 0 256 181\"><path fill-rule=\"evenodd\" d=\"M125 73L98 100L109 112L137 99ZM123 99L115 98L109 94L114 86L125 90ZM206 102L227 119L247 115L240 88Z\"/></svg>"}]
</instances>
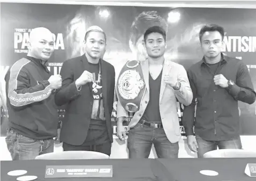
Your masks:
<instances>
[{"instance_id":1,"label":"jeans worn by the man in the light blazer","mask_svg":"<svg viewBox=\"0 0 256 181\"><path fill-rule=\"evenodd\" d=\"M163 128L150 128L137 123L129 130L127 147L129 158L149 158L152 144L158 158L178 158L179 144L171 143Z\"/></svg>"}]
</instances>

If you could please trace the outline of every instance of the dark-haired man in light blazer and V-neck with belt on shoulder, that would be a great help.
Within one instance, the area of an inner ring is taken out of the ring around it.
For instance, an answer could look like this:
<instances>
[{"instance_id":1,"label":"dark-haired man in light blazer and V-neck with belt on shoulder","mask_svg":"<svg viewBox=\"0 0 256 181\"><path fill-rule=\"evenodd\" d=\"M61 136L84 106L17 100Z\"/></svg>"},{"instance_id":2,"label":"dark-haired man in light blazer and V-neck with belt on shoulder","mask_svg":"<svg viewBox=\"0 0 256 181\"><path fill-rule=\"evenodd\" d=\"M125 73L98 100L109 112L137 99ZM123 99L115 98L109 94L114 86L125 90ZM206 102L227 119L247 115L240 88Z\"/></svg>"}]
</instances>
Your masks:
<instances>
[{"instance_id":1,"label":"dark-haired man in light blazer and V-neck with belt on shoulder","mask_svg":"<svg viewBox=\"0 0 256 181\"><path fill-rule=\"evenodd\" d=\"M127 128L129 158L148 158L152 144L155 146L158 158L178 158L178 141L181 134L176 103L178 99L180 103L189 105L193 96L186 70L183 66L164 58L166 49L164 28L160 26L148 28L143 40L148 58L139 63L144 78L145 92L139 104L136 105L138 109L135 110L129 110L129 106L123 107L121 103L123 100L118 100L117 135L121 140L126 138L122 123L128 116L127 111L134 111L135 114ZM134 69L129 61L125 66L130 68L130 71ZM126 72L121 71L119 78L122 78L122 74ZM129 80L127 76L124 77ZM123 89L127 89L127 84L116 86L123 86ZM141 84L141 80L137 80L134 84ZM122 92L117 91L117 93L122 96ZM129 93L132 95L137 93L137 90ZM127 101L134 104L133 100Z\"/></svg>"}]
</instances>

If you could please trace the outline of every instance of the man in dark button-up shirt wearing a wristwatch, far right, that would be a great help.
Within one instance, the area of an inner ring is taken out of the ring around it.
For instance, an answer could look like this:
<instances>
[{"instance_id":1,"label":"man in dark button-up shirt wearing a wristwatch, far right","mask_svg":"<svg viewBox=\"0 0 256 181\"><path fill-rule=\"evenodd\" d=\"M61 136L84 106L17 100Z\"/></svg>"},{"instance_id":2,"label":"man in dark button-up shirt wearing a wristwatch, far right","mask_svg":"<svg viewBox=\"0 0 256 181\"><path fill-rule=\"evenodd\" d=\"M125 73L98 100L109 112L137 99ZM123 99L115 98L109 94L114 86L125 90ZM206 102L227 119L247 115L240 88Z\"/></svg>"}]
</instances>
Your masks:
<instances>
[{"instance_id":1,"label":"man in dark button-up shirt wearing a wristwatch, far right","mask_svg":"<svg viewBox=\"0 0 256 181\"><path fill-rule=\"evenodd\" d=\"M256 93L243 61L221 53L223 27L206 25L199 36L204 57L188 69L193 101L185 106L182 123L188 147L198 153L198 158L203 158L204 153L217 146L242 149L238 100L253 104Z\"/></svg>"}]
</instances>

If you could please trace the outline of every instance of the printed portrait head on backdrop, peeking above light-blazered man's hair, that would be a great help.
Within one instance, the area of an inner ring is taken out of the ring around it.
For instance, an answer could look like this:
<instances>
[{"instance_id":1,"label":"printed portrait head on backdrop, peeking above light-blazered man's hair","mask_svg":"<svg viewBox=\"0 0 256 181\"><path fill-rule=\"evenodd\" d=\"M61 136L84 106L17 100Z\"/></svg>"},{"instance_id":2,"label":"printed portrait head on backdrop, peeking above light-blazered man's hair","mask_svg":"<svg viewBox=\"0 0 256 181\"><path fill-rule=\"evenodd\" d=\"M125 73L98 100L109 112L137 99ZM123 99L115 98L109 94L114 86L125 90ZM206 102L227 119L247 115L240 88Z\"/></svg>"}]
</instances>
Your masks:
<instances>
[{"instance_id":1,"label":"printed portrait head on backdrop, peeking above light-blazered man's hair","mask_svg":"<svg viewBox=\"0 0 256 181\"><path fill-rule=\"evenodd\" d=\"M133 21L130 28L130 41L135 45L145 31L152 26L163 27L167 32L168 23L157 11L143 11Z\"/></svg>"}]
</instances>

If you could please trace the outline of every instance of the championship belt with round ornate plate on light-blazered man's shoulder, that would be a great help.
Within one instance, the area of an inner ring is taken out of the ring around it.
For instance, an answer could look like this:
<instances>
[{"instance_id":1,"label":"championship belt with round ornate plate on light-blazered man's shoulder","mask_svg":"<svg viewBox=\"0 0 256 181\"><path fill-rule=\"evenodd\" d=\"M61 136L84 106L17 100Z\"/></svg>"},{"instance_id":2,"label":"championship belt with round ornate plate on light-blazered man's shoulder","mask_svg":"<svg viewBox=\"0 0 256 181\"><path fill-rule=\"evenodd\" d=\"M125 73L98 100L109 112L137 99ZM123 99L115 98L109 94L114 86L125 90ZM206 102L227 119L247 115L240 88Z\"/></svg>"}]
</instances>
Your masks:
<instances>
[{"instance_id":1,"label":"championship belt with round ornate plate on light-blazered man's shoulder","mask_svg":"<svg viewBox=\"0 0 256 181\"><path fill-rule=\"evenodd\" d=\"M140 62L128 61L123 66L116 84L116 95L120 104L128 112L138 111L145 90Z\"/></svg>"}]
</instances>

